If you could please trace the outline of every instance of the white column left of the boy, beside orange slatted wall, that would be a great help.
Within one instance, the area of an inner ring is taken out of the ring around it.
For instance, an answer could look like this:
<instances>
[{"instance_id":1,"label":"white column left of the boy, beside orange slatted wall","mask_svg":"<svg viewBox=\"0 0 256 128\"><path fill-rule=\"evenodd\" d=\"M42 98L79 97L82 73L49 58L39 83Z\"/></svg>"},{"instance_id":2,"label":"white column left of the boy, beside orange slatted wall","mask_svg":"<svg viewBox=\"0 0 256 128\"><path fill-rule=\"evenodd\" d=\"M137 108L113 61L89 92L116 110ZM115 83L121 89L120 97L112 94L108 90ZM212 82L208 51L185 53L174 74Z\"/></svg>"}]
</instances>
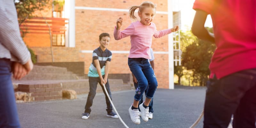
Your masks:
<instances>
[{"instance_id":1,"label":"white column left of the boy, beside orange slatted wall","mask_svg":"<svg viewBox=\"0 0 256 128\"><path fill-rule=\"evenodd\" d=\"M69 19L68 47L76 46L75 0L65 0L65 18Z\"/></svg>"}]
</instances>

